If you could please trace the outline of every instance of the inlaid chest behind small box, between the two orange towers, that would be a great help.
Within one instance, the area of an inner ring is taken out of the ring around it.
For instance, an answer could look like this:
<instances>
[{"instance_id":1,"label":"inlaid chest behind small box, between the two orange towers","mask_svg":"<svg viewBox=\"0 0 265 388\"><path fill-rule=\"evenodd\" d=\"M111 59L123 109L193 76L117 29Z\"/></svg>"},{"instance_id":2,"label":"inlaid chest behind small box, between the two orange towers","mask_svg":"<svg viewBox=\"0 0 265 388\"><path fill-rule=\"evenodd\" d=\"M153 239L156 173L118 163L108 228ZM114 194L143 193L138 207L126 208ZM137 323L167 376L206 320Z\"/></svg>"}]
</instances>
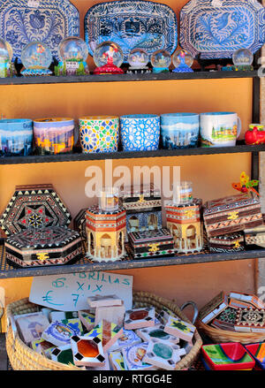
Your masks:
<instances>
[{"instance_id":1,"label":"inlaid chest behind small box, between the two orange towers","mask_svg":"<svg viewBox=\"0 0 265 388\"><path fill-rule=\"evenodd\" d=\"M120 195L122 206L126 210L127 233L154 231L162 228L161 193L154 184L125 186Z\"/></svg>"}]
</instances>

